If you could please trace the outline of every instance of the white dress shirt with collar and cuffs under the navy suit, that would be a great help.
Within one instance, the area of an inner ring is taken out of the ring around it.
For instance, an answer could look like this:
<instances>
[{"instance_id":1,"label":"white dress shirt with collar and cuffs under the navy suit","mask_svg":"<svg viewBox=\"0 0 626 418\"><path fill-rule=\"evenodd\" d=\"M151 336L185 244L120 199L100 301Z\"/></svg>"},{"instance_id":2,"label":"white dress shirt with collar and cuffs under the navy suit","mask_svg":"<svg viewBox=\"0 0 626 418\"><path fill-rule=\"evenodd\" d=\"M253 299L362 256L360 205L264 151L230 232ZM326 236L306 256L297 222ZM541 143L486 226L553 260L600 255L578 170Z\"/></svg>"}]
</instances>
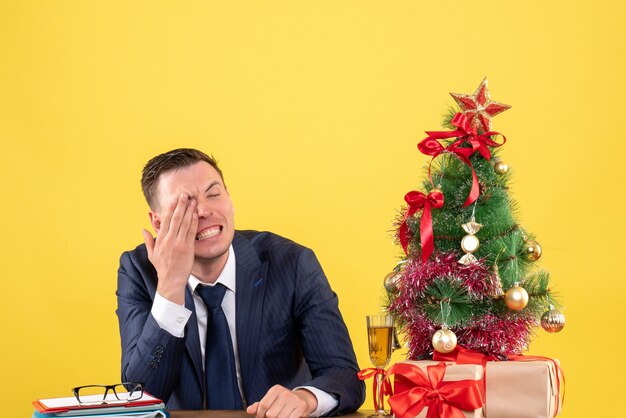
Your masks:
<instances>
[{"instance_id":1,"label":"white dress shirt with collar and cuffs under the navy suit","mask_svg":"<svg viewBox=\"0 0 626 418\"><path fill-rule=\"evenodd\" d=\"M237 371L237 384L239 385L239 392L242 394L241 398L246 404L245 396L242 390L241 369L239 366L239 351L237 348L237 331L235 329L236 324L236 311L235 311L235 292L236 292L236 260L235 251L231 245L228 250L228 259L224 270L220 273L219 277L213 284L202 283L193 275L189 276L187 286L193 295L193 301L196 308L196 317L198 319L198 331L200 336L200 349L202 351L202 364L204 367L204 347L206 344L206 327L207 327L207 309L202 302L200 296L195 292L197 286L215 286L217 283L221 283L226 287L226 293L222 300L222 309L228 322L228 328L230 330L230 338L233 342L233 352L235 354L235 369ZM191 316L191 311L184 306L171 302L159 295L157 292L154 296L154 303L151 310L152 316L156 323L165 331L172 334L174 337L182 338L185 336L185 325ZM329 393L326 393L320 389L312 386L299 386L295 389L307 389L317 398L317 409L311 414L312 417L318 417L324 415L334 409L339 401Z\"/></svg>"}]
</instances>

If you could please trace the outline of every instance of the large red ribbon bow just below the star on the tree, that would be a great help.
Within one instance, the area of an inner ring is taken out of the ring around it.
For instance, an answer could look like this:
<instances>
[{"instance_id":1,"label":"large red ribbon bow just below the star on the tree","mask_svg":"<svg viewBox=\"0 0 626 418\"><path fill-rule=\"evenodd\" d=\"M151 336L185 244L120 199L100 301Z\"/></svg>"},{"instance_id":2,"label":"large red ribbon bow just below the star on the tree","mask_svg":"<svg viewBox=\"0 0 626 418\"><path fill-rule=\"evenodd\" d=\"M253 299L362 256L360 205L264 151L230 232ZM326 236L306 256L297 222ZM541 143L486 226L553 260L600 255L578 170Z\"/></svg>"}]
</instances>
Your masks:
<instances>
[{"instance_id":1,"label":"large red ribbon bow just below the star on the tree","mask_svg":"<svg viewBox=\"0 0 626 418\"><path fill-rule=\"evenodd\" d=\"M456 126L457 129L454 131L426 131L428 137L417 144L417 148L423 154L431 155L433 157L428 166L428 177L430 178L431 183L433 183L433 180L430 175L430 167L433 160L443 152L449 152L456 155L461 161L468 165L468 167L472 170L472 187L465 203L463 204L463 207L467 207L475 202L480 194L478 176L476 176L476 171L474 170L474 166L470 162L469 157L474 154L474 152L478 151L483 158L490 160L491 151L488 146L499 147L504 145L506 143L506 137L495 131L478 134L476 128L471 127L470 120L463 113L457 113L454 115L451 123L453 126ZM491 139L491 136L493 135L501 135L503 142L500 144L493 141ZM459 138L459 140L448 145L447 147L444 147L441 143L439 143L439 140L447 138ZM465 143L468 143L470 147L462 147Z\"/></svg>"}]
</instances>

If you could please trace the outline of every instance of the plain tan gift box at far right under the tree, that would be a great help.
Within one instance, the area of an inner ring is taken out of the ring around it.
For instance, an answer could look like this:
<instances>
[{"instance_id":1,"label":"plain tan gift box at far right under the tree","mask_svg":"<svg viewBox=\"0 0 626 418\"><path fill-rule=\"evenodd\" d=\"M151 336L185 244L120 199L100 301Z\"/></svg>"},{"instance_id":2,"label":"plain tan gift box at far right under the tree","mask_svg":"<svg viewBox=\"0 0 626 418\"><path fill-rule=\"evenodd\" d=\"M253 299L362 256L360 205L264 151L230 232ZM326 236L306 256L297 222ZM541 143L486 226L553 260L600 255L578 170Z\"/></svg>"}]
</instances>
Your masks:
<instances>
[{"instance_id":1,"label":"plain tan gift box at far right under the tree","mask_svg":"<svg viewBox=\"0 0 626 418\"><path fill-rule=\"evenodd\" d=\"M556 360L490 361L487 418L553 418L561 411L562 376Z\"/></svg>"}]
</instances>

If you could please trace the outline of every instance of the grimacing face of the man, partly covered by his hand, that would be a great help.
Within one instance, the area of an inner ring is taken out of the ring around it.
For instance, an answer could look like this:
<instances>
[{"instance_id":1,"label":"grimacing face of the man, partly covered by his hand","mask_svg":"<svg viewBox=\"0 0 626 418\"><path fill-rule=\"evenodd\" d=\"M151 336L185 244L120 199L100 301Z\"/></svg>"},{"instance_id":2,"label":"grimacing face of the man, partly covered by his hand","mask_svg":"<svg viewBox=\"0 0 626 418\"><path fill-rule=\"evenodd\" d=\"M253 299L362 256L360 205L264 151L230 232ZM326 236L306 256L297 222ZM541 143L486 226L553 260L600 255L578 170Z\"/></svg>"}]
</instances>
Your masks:
<instances>
[{"instance_id":1,"label":"grimacing face of the man, partly covered by his hand","mask_svg":"<svg viewBox=\"0 0 626 418\"><path fill-rule=\"evenodd\" d=\"M228 248L235 234L234 209L219 173L210 164L200 161L159 176L156 190L156 212L150 212L155 231L172 200L182 193L197 200L198 230L194 264L226 262Z\"/></svg>"}]
</instances>

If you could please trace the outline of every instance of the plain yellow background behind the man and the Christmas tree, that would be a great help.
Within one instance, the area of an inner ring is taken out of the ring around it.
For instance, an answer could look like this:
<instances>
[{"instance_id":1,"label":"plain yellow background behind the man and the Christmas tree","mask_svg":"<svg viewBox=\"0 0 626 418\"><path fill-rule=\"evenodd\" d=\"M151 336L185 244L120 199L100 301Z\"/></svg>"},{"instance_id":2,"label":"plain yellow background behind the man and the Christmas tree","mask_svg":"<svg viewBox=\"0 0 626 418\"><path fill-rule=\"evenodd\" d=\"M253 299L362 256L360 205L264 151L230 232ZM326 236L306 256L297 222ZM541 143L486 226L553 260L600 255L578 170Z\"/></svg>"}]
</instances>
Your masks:
<instances>
[{"instance_id":1,"label":"plain yellow background behind the man and the Christmas tree","mask_svg":"<svg viewBox=\"0 0 626 418\"><path fill-rule=\"evenodd\" d=\"M118 258L149 226L140 170L181 146L221 161L238 228L316 251L368 366L364 317L401 254L389 231L424 176L416 144L484 76L513 106L494 128L566 305L530 353L561 360L564 417L613 415L625 16L618 0L3 0L0 415L119 381Z\"/></svg>"}]
</instances>

